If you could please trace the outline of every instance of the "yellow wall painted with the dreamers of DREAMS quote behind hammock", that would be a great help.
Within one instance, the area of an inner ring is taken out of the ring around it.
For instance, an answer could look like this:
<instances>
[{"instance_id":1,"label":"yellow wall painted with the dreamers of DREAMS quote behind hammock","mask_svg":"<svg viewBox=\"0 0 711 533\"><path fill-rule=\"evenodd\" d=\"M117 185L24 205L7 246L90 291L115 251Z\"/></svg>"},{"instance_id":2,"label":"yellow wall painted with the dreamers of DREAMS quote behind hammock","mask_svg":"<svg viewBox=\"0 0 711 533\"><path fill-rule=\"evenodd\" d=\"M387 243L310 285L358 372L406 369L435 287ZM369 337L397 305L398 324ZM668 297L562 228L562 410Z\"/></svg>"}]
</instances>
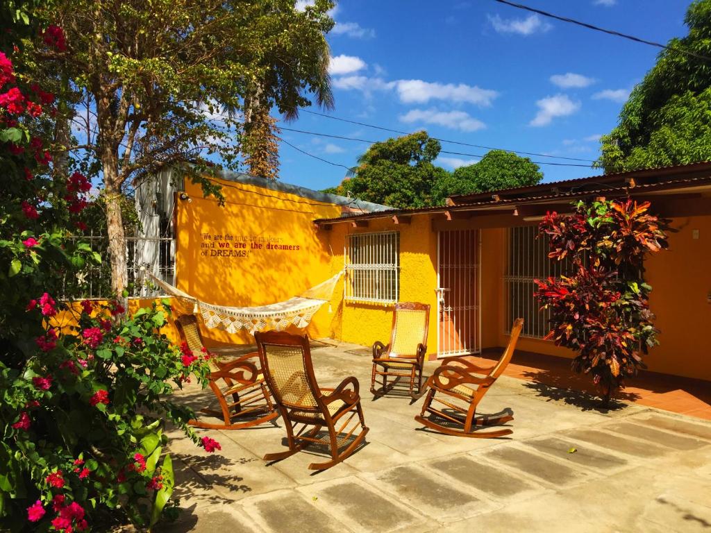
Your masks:
<instances>
[{"instance_id":1,"label":"yellow wall painted with the dreamers of DREAMS quote behind hammock","mask_svg":"<svg viewBox=\"0 0 711 533\"><path fill-rule=\"evenodd\" d=\"M224 206L203 198L200 186L192 183L186 183L191 201L177 200L179 289L216 305L261 306L296 296L343 268L331 256L328 239L312 223L338 217L341 206L256 185L220 184ZM292 248L272 249L273 244ZM309 335L332 335L336 309L331 310L326 305L316 313ZM253 342L245 332L230 335L202 329L210 345Z\"/></svg>"}]
</instances>

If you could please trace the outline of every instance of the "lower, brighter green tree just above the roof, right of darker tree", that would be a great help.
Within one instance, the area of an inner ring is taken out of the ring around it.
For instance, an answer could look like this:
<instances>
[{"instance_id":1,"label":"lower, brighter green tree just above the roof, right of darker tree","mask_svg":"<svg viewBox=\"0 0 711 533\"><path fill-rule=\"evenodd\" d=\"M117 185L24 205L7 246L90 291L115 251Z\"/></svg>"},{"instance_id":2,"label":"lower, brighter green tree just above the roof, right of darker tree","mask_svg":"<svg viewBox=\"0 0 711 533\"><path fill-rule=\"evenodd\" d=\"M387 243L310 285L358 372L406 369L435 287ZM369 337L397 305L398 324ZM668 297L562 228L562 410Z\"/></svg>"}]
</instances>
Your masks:
<instances>
[{"instance_id":1,"label":"lower, brighter green tree just above the roof, right of darker tree","mask_svg":"<svg viewBox=\"0 0 711 533\"><path fill-rule=\"evenodd\" d=\"M435 204L444 204L451 195L535 185L542 179L540 168L529 158L491 150L479 163L460 166L438 181L432 190L432 198Z\"/></svg>"}]
</instances>

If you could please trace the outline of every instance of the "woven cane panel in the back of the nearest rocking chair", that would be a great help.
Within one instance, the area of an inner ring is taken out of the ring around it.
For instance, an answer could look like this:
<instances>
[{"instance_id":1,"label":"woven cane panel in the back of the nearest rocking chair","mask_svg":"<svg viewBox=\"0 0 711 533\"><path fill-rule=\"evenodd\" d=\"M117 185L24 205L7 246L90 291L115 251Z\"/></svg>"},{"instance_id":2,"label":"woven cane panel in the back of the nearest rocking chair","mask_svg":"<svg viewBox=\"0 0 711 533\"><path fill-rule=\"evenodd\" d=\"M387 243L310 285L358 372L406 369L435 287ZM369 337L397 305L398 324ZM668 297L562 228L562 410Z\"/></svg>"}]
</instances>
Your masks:
<instances>
[{"instance_id":1,"label":"woven cane panel in the back of the nearest rocking chair","mask_svg":"<svg viewBox=\"0 0 711 533\"><path fill-rule=\"evenodd\" d=\"M255 335L262 367L277 401L287 407L314 409L318 406L314 389L309 382L313 370L310 354L301 345L285 345L268 340L269 333ZM266 338L265 338L266 337ZM309 366L307 366L309 365Z\"/></svg>"}]
</instances>

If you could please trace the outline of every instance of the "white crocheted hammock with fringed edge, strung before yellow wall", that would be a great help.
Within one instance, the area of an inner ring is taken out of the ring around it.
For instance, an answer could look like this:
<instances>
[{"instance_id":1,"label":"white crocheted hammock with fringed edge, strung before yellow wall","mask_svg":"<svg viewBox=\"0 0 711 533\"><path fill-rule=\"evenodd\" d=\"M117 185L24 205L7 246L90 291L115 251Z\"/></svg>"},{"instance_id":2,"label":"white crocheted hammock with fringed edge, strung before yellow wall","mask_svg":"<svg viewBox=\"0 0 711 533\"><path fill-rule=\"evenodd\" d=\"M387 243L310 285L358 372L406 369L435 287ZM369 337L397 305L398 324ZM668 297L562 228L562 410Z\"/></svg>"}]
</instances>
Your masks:
<instances>
[{"instance_id":1,"label":"white crocheted hammock with fringed edge, strung before yellow wall","mask_svg":"<svg viewBox=\"0 0 711 533\"><path fill-rule=\"evenodd\" d=\"M167 294L175 296L183 307L191 308L194 314L200 313L203 317L203 322L208 328L222 328L228 333L237 333L239 330L255 333L255 331L262 330L281 331L291 324L294 324L296 328L306 328L316 311L319 311L319 308L324 303L331 300L333 290L336 289L338 279L343 276L343 271L338 272L331 279L311 287L311 289L304 291L299 296L258 307L215 306L212 303L205 303L198 300L198 298L190 296L171 284L156 278L150 272L146 272L146 274Z\"/></svg>"}]
</instances>

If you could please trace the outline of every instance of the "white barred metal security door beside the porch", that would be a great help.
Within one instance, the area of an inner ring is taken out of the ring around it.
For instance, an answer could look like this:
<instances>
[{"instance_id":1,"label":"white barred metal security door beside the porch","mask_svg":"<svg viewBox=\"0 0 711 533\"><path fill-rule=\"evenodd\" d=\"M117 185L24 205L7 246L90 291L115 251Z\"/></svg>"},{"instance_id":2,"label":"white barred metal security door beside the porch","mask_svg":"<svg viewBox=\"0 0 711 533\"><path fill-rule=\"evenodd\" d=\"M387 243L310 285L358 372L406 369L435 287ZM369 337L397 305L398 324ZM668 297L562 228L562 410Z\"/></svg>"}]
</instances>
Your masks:
<instances>
[{"instance_id":1,"label":"white barred metal security door beside the porch","mask_svg":"<svg viewBox=\"0 0 711 533\"><path fill-rule=\"evenodd\" d=\"M481 351L479 230L437 234L437 356Z\"/></svg>"}]
</instances>

